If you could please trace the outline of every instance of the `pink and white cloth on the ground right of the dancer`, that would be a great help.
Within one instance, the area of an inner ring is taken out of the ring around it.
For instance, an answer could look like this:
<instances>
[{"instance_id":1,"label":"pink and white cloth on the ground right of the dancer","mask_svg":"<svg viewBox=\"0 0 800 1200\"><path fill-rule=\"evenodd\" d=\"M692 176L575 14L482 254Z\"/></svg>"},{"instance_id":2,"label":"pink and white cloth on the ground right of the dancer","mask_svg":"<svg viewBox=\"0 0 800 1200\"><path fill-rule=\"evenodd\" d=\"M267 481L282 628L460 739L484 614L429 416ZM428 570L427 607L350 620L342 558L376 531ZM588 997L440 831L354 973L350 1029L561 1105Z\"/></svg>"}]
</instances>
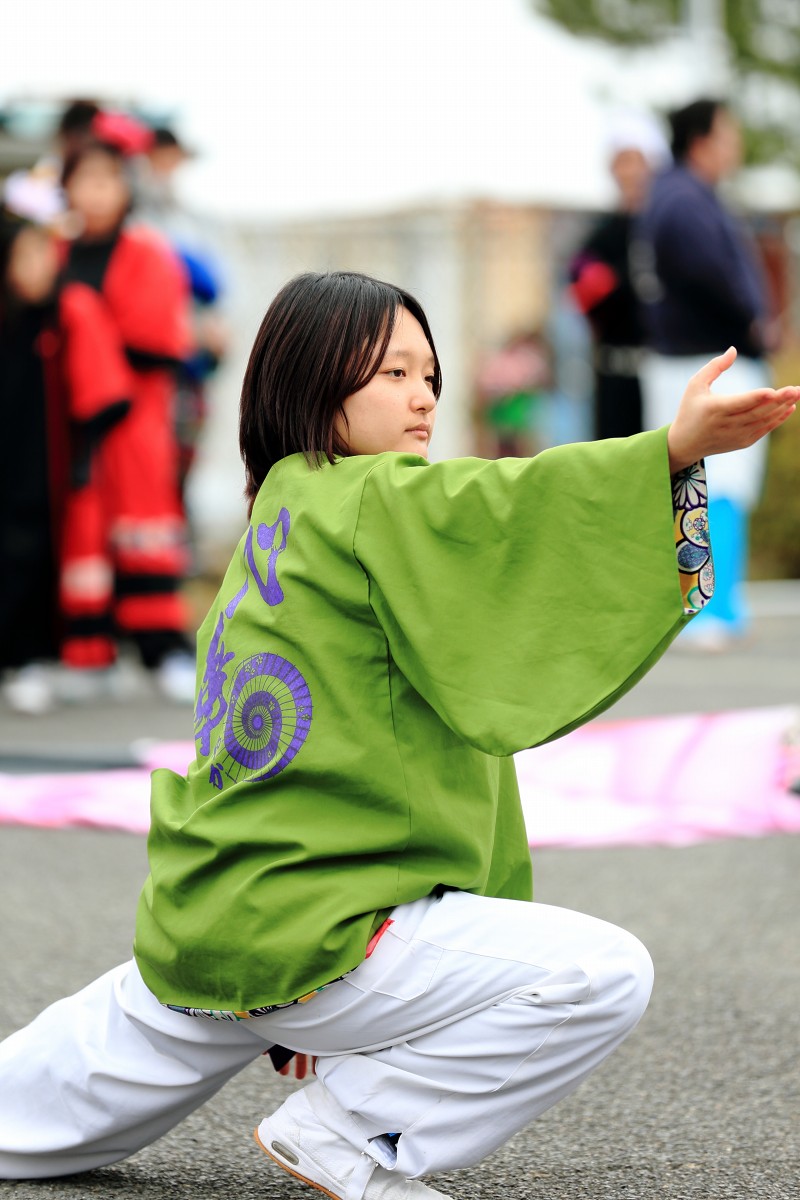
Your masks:
<instances>
[{"instance_id":1,"label":"pink and white cloth on the ground right of the dancer","mask_svg":"<svg viewBox=\"0 0 800 1200\"><path fill-rule=\"evenodd\" d=\"M517 755L534 846L686 846L800 833L792 708L595 721Z\"/></svg>"}]
</instances>

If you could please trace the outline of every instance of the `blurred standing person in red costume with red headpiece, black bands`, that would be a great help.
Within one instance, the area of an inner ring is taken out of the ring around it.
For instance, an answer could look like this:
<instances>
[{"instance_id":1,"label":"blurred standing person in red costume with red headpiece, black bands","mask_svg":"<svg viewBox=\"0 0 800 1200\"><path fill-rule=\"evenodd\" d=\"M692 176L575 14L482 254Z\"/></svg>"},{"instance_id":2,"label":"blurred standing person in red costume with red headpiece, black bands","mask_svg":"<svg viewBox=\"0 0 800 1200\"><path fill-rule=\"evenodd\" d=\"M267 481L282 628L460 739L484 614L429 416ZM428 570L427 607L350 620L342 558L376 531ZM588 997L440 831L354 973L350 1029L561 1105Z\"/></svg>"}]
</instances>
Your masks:
<instances>
[{"instance_id":1,"label":"blurred standing person in red costume with red headpiece, black bands","mask_svg":"<svg viewBox=\"0 0 800 1200\"><path fill-rule=\"evenodd\" d=\"M115 628L136 643L170 698L191 702L194 658L180 592L186 522L173 414L175 372L191 349L190 301L184 268L168 244L128 221L128 161L150 137L125 114L101 112L91 137L68 151L62 186L80 232L65 244L64 274L103 298L132 370L131 410L103 446ZM109 665L102 649L84 649L67 646L67 662Z\"/></svg>"}]
</instances>

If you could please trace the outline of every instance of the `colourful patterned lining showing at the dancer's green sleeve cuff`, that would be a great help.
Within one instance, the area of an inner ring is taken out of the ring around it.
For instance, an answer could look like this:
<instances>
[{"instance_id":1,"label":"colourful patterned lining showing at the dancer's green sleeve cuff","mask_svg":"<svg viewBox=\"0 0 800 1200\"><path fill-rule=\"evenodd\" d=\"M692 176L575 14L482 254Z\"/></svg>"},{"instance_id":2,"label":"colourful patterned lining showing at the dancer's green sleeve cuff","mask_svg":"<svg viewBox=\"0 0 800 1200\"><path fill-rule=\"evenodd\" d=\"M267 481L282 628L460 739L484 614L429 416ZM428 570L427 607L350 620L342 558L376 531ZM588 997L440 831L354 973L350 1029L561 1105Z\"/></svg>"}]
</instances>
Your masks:
<instances>
[{"instance_id":1,"label":"colourful patterned lining showing at the dancer's green sleeve cuff","mask_svg":"<svg viewBox=\"0 0 800 1200\"><path fill-rule=\"evenodd\" d=\"M693 463L672 479L678 575L684 612L693 616L714 595L714 559L709 538L705 463Z\"/></svg>"}]
</instances>

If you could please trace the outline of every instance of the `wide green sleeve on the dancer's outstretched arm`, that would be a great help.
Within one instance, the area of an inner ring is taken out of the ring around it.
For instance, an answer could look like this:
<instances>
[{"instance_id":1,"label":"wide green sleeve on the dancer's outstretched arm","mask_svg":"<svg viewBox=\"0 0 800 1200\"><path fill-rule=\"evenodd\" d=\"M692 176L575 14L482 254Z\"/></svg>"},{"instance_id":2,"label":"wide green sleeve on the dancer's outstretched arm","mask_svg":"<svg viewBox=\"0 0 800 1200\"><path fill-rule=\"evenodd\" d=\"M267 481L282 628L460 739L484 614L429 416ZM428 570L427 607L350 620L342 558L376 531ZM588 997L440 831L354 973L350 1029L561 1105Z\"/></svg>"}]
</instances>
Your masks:
<instances>
[{"instance_id":1,"label":"wide green sleeve on the dancer's outstretched arm","mask_svg":"<svg viewBox=\"0 0 800 1200\"><path fill-rule=\"evenodd\" d=\"M652 666L692 607L675 546L666 430L528 460L381 455L354 539L392 660L492 755L569 732Z\"/></svg>"}]
</instances>

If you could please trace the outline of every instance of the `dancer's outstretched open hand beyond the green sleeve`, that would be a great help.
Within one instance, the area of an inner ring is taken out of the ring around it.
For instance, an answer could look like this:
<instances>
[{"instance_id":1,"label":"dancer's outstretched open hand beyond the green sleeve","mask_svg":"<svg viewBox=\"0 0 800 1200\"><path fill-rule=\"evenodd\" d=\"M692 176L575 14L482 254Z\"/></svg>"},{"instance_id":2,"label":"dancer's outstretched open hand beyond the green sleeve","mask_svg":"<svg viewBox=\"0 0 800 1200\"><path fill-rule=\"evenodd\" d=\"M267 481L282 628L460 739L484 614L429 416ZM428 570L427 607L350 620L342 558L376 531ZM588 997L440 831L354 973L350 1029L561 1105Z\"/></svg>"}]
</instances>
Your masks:
<instances>
[{"instance_id":1,"label":"dancer's outstretched open hand beyond the green sleeve","mask_svg":"<svg viewBox=\"0 0 800 1200\"><path fill-rule=\"evenodd\" d=\"M757 388L736 396L717 396L711 384L735 359L736 352L730 347L690 379L667 434L673 475L706 455L751 446L782 425L800 401L800 388L794 386Z\"/></svg>"}]
</instances>

